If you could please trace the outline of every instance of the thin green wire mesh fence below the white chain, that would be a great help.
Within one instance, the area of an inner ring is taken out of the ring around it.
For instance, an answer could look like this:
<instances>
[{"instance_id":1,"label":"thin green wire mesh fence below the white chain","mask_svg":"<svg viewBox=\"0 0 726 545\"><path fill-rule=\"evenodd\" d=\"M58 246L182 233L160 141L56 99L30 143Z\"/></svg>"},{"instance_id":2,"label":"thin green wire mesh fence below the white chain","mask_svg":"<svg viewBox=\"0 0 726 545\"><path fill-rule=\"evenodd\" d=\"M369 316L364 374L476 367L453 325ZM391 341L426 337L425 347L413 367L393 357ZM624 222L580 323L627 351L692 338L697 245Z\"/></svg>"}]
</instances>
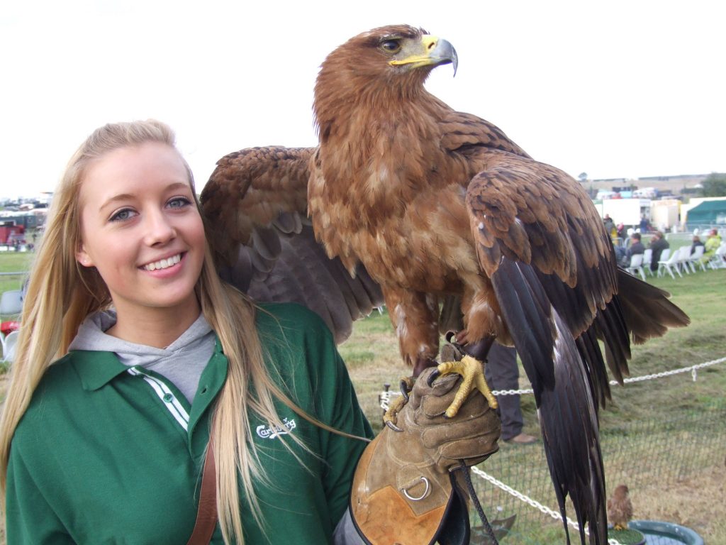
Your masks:
<instances>
[{"instance_id":1,"label":"thin green wire mesh fence below the white chain","mask_svg":"<svg viewBox=\"0 0 726 545\"><path fill-rule=\"evenodd\" d=\"M626 483L631 490L652 488L656 493L663 485L722 464L726 451L725 422L726 401L714 400L697 409L669 411L662 419L600 429L608 491ZM481 469L539 504L557 509L542 445L502 445L496 456L481 464ZM483 478L475 475L473 480L490 520L516 516L502 541L528 545L564 543L561 522ZM573 513L569 505L568 514ZM476 524L476 513L472 517Z\"/></svg>"}]
</instances>

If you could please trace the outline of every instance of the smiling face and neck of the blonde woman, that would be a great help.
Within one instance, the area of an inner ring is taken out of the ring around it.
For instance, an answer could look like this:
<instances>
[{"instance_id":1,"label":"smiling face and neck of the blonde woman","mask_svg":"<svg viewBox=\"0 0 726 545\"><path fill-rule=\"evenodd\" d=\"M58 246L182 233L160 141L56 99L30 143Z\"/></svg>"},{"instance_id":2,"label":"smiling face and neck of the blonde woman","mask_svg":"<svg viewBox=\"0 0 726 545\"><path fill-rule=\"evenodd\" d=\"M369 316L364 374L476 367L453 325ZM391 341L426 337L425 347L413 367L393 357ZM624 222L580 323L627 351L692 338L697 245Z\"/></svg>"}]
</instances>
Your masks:
<instances>
[{"instance_id":1,"label":"smiling face and neck of the blonde woman","mask_svg":"<svg viewBox=\"0 0 726 545\"><path fill-rule=\"evenodd\" d=\"M76 259L97 268L119 319L199 314L204 227L174 148L146 142L105 154L86 169L80 203Z\"/></svg>"}]
</instances>

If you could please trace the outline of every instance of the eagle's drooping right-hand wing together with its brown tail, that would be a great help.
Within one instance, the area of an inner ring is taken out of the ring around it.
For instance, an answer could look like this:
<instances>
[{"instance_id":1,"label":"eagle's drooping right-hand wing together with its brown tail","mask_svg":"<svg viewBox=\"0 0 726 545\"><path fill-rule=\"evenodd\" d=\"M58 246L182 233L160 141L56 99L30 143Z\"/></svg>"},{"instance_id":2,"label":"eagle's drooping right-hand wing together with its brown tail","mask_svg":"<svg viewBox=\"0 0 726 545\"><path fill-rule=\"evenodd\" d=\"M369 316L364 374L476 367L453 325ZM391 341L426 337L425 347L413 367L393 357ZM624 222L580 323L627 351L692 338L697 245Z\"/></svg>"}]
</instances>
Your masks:
<instances>
[{"instance_id":1,"label":"eagle's drooping right-hand wing together with its brown tail","mask_svg":"<svg viewBox=\"0 0 726 545\"><path fill-rule=\"evenodd\" d=\"M621 382L630 336L655 336L688 317L663 291L619 270L590 199L563 171L508 151L467 153L481 168L466 196L478 259L534 389L560 511L569 495L580 528L589 521L604 542L597 407L610 389L597 340ZM623 296L648 309L648 323Z\"/></svg>"}]
</instances>

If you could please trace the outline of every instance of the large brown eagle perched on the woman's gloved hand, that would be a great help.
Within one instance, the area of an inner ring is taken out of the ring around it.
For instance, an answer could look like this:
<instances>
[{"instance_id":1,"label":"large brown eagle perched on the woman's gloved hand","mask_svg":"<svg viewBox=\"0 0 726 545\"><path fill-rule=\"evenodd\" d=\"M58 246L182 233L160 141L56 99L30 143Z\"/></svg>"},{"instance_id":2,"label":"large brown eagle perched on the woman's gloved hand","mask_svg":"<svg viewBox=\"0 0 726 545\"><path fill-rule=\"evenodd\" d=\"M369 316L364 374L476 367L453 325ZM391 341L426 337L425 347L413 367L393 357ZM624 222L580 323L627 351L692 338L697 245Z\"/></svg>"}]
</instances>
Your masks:
<instances>
[{"instance_id":1,"label":"large brown eagle perched on the woman's gloved hand","mask_svg":"<svg viewBox=\"0 0 726 545\"><path fill-rule=\"evenodd\" d=\"M578 182L427 92L446 64L456 72L452 44L409 25L333 50L314 88L317 147L221 158L201 194L211 244L225 278L307 304L338 341L385 303L414 376L438 365L443 331L475 357L459 370L473 384L492 342L515 347L563 520L569 496L580 541L587 523L604 544L606 365L622 382L631 342L689 319L617 267Z\"/></svg>"}]
</instances>

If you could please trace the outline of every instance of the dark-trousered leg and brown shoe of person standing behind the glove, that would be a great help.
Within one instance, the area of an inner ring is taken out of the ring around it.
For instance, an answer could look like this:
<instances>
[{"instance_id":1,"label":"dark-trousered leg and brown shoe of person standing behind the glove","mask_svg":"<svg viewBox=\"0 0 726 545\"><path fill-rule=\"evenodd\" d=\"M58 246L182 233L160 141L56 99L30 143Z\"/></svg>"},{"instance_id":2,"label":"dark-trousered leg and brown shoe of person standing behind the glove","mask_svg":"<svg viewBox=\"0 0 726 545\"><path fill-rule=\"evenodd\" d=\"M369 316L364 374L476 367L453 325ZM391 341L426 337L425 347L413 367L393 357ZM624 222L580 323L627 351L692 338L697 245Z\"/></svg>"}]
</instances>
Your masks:
<instances>
[{"instance_id":1,"label":"dark-trousered leg and brown shoe of person standing behind the glove","mask_svg":"<svg viewBox=\"0 0 726 545\"><path fill-rule=\"evenodd\" d=\"M492 344L484 366L486 381L494 390L519 389L517 351L496 342ZM497 395L499 416L502 419L502 440L515 445L537 443L537 437L522 432L524 419L519 394Z\"/></svg>"}]
</instances>

